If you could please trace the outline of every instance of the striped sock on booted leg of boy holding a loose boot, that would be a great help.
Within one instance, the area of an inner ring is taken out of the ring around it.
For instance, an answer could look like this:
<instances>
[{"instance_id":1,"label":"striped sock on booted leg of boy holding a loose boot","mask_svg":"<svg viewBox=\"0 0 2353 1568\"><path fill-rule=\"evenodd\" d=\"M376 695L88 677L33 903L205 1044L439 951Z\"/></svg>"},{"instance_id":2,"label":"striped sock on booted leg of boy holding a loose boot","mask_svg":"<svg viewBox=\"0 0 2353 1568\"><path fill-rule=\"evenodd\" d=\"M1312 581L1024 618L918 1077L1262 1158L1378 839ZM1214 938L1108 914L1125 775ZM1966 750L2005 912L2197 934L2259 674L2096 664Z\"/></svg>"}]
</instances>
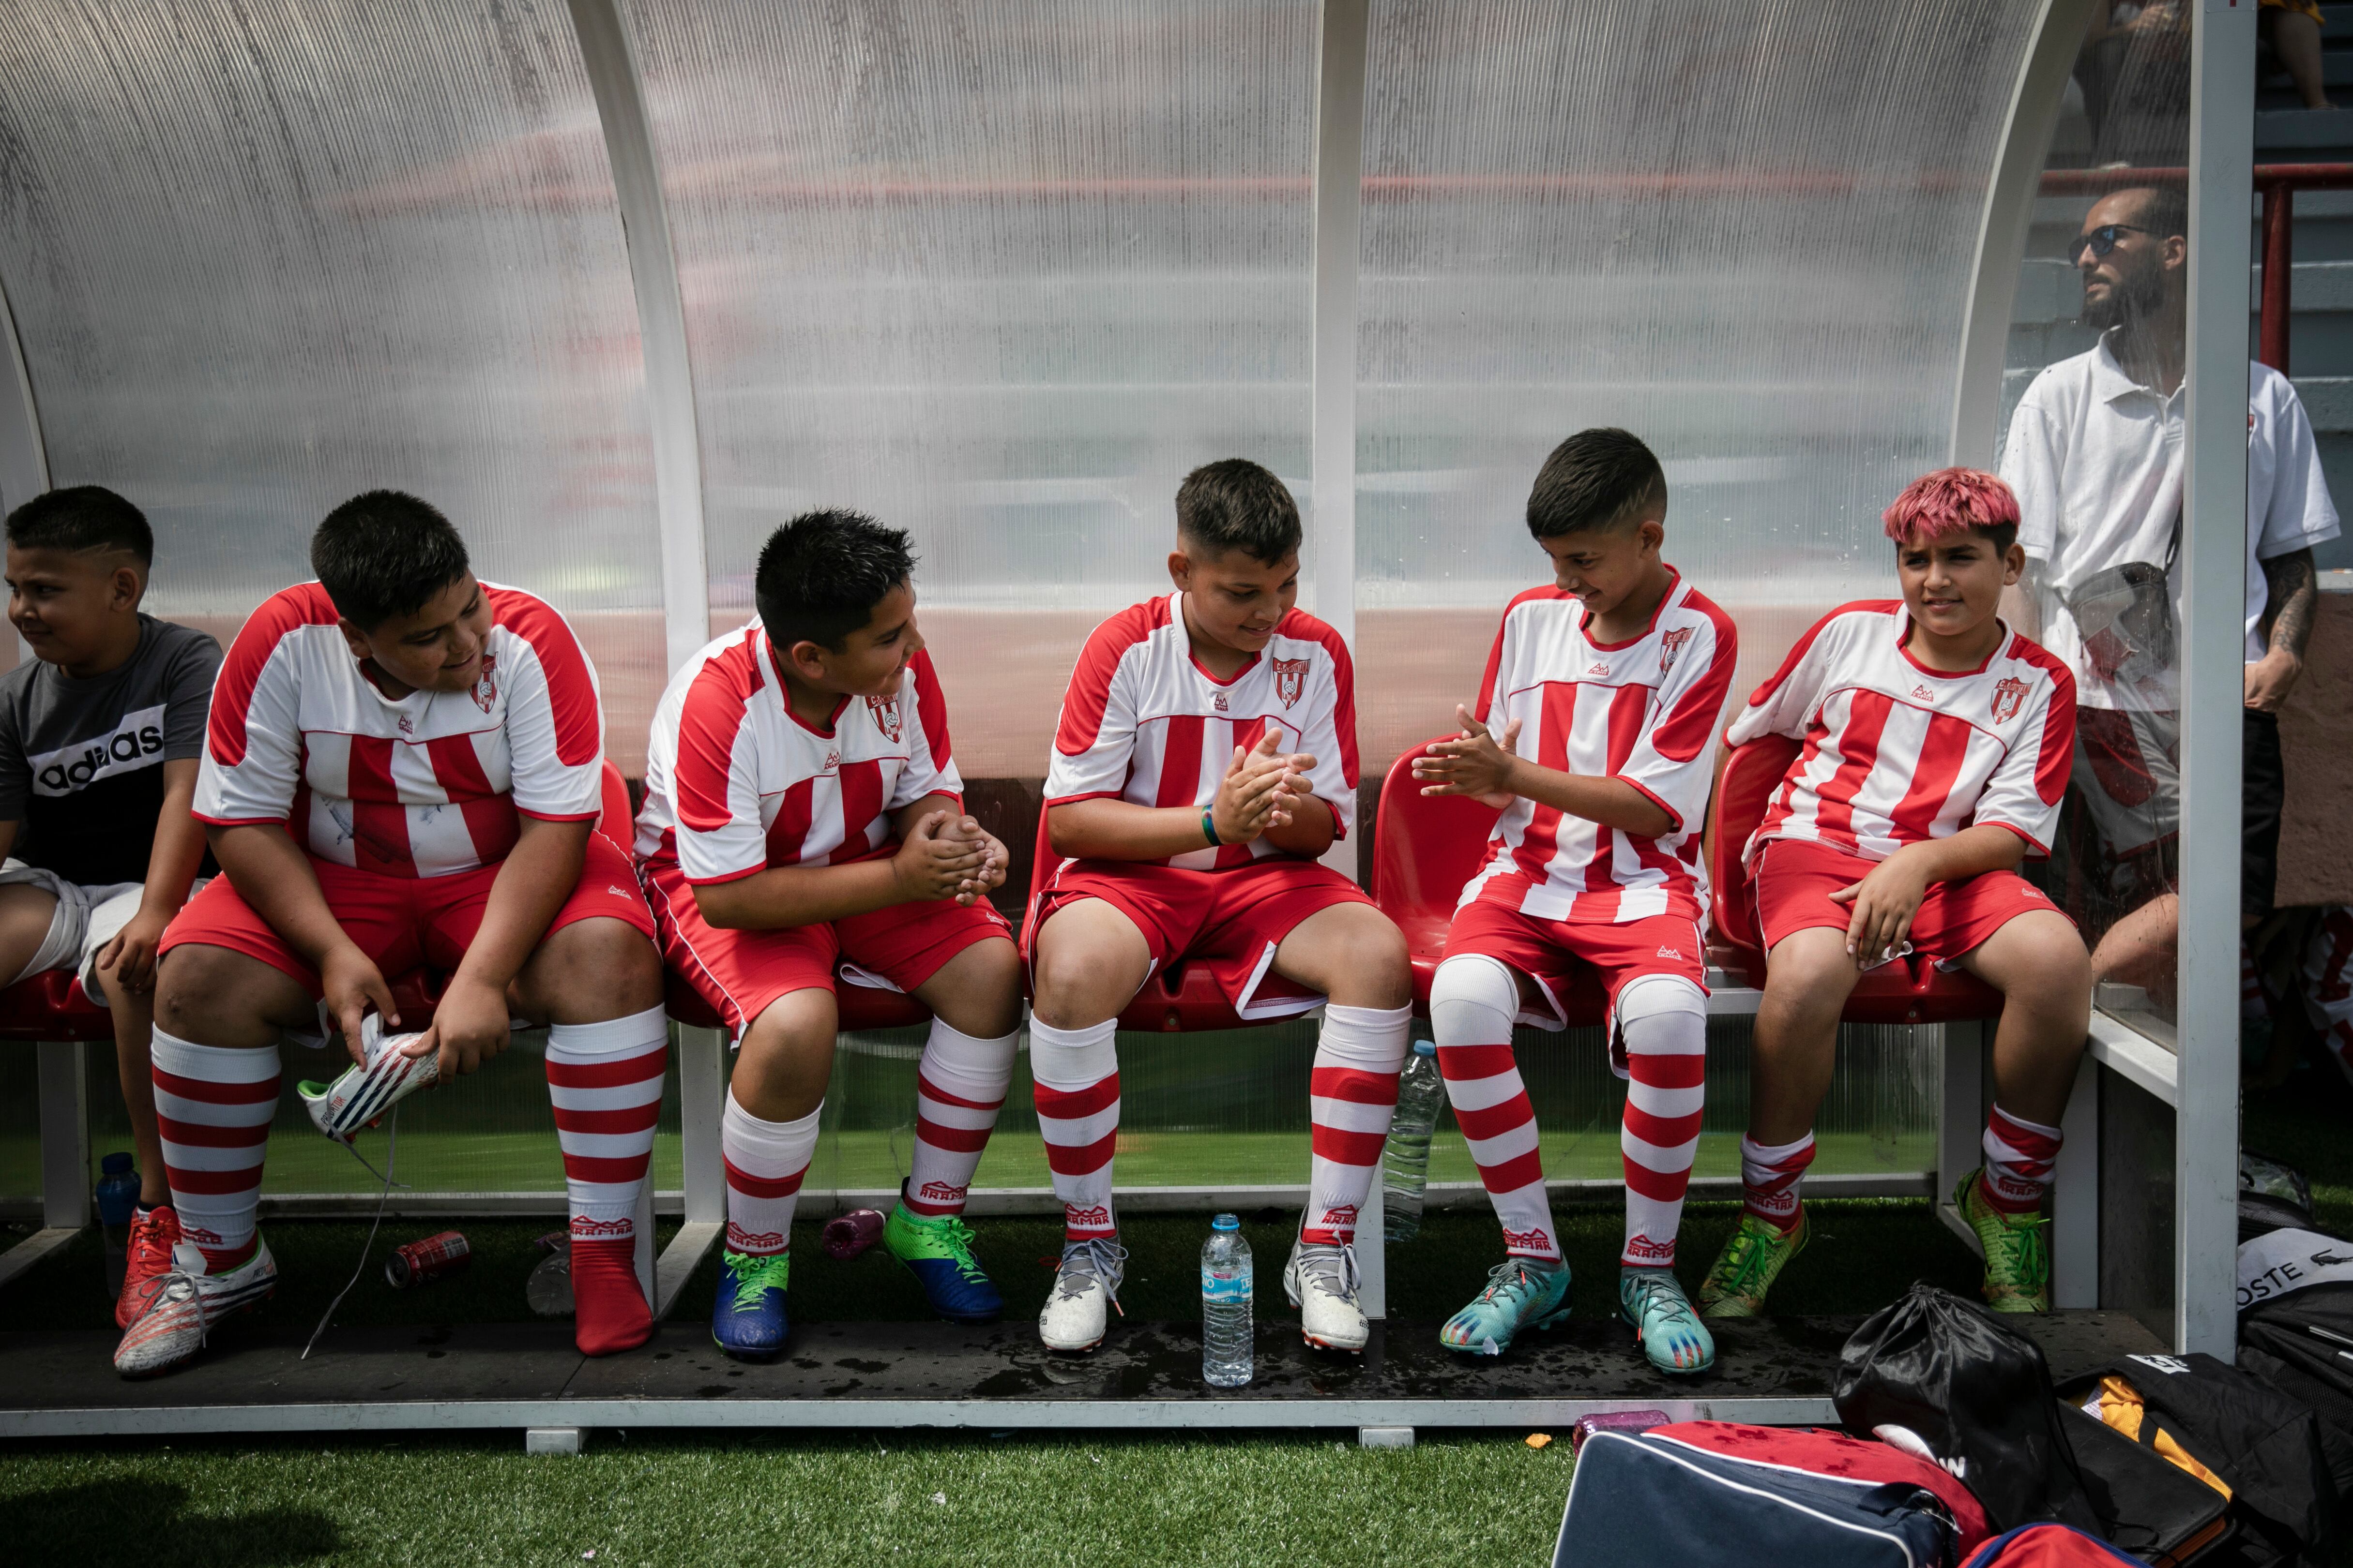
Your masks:
<instances>
[{"instance_id":1,"label":"striped sock on booted leg of boy holding a loose boot","mask_svg":"<svg viewBox=\"0 0 2353 1568\"><path fill-rule=\"evenodd\" d=\"M278 1114L278 1046L198 1046L155 1030L155 1126L172 1208L205 1267L226 1274L254 1255L261 1157Z\"/></svg>"}]
</instances>

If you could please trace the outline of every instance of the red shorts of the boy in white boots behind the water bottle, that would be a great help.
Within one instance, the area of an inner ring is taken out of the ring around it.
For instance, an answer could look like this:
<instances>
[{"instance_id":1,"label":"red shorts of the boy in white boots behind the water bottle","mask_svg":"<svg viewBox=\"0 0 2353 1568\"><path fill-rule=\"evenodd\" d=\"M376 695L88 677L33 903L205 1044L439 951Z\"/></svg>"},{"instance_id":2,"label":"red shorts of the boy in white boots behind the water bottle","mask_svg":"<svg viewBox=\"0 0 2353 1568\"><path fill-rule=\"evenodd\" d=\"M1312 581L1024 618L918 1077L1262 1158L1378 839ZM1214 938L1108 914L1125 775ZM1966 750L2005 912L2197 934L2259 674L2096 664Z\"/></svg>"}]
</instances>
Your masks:
<instances>
[{"instance_id":1,"label":"red shorts of the boy in white boots behind the water bottle","mask_svg":"<svg viewBox=\"0 0 2353 1568\"><path fill-rule=\"evenodd\" d=\"M1153 971L1176 961L1202 964L1233 1011L1252 1023L1322 1006L1318 992L1273 971L1275 947L1308 914L1337 903L1372 903L1365 889L1329 865L1297 856L1266 856L1228 872L1068 860L1038 893L1026 957L1038 952L1038 926L1078 898L1101 898L1132 919L1153 950Z\"/></svg>"}]
</instances>

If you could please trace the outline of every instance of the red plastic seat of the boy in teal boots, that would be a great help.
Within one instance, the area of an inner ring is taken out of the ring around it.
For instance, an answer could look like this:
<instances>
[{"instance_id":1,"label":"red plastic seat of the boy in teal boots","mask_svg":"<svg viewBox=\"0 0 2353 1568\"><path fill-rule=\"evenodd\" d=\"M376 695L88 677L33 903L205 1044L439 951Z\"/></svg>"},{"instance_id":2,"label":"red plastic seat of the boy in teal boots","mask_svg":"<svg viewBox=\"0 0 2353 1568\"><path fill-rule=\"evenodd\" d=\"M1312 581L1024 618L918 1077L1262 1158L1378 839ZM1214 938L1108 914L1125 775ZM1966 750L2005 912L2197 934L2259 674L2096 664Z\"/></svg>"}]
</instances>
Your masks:
<instances>
[{"instance_id":1,"label":"red plastic seat of the boy in teal boots","mask_svg":"<svg viewBox=\"0 0 2353 1568\"><path fill-rule=\"evenodd\" d=\"M1419 755L1421 745L1409 748L1388 764L1381 780L1381 809L1372 827L1372 900L1405 933L1414 1001L1428 1009L1431 980L1447 957L1454 900L1487 858L1499 811L1461 795L1424 795L1414 783ZM1579 964L1574 976L1560 1006L1572 1025L1598 1025L1607 1011L1600 973Z\"/></svg>"}]
</instances>

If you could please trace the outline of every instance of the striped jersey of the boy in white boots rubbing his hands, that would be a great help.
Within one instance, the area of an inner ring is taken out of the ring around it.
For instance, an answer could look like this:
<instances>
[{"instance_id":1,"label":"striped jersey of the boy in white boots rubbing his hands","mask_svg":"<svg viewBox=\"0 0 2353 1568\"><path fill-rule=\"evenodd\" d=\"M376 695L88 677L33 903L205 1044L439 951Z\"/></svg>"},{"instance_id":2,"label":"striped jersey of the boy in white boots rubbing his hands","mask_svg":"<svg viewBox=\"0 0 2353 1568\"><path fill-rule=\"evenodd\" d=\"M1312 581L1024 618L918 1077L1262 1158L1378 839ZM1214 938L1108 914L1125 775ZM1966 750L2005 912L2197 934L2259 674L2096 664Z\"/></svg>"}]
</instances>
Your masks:
<instances>
[{"instance_id":1,"label":"striped jersey of the boy in white boots rubbing his hands","mask_svg":"<svg viewBox=\"0 0 2353 1568\"><path fill-rule=\"evenodd\" d=\"M1054 726L1045 804L1127 799L1139 806L1207 809L1233 764L1235 745L1268 729L1282 750L1308 752L1318 799L1339 837L1355 820L1355 665L1348 644L1294 609L1233 679L1193 658L1184 595L1122 609L1087 637ZM1217 844L1160 860L1188 870L1231 870L1282 853L1266 839Z\"/></svg>"}]
</instances>

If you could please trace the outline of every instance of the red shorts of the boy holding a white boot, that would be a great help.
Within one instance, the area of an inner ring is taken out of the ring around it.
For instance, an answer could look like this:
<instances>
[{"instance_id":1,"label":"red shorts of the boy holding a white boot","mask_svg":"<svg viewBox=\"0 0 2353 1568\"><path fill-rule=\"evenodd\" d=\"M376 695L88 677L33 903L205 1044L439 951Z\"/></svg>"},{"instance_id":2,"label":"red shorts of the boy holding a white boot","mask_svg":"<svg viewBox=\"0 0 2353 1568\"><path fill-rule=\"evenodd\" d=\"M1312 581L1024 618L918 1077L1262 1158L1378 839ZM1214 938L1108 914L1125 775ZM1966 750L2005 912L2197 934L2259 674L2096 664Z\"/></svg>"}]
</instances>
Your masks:
<instances>
[{"instance_id":1,"label":"red shorts of the boy holding a white boot","mask_svg":"<svg viewBox=\"0 0 2353 1568\"><path fill-rule=\"evenodd\" d=\"M318 886L327 896L327 910L344 936L360 945L360 952L384 971L386 978L412 969L438 969L442 973L459 966L475 931L482 929L482 910L489 907L489 884L499 879L499 865L478 865L471 872L447 877L386 877L362 872L334 860L311 858ZM638 872L628 856L600 832L588 835L581 879L572 886L572 898L555 910L548 931L562 931L576 919L626 919L638 931L654 936L654 917L638 891ZM261 959L271 969L282 969L318 997L318 971L304 961L252 905L238 898L228 877L214 877L205 891L172 919L158 943L158 952L172 952L186 943L205 947L228 947L245 957Z\"/></svg>"}]
</instances>

